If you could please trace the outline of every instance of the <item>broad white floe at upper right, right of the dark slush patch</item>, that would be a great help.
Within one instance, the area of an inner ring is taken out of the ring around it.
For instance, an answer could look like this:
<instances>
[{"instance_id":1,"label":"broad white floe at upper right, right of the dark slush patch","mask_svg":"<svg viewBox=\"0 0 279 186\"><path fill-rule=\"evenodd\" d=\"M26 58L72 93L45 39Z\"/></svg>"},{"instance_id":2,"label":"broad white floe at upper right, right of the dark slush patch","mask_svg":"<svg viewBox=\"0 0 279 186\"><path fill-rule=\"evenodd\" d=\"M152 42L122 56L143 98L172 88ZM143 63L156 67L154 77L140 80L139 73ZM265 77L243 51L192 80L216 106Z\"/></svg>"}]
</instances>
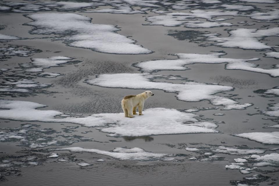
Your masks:
<instances>
[{"instance_id":1,"label":"broad white floe at upper right, right of the dark slush patch","mask_svg":"<svg viewBox=\"0 0 279 186\"><path fill-rule=\"evenodd\" d=\"M218 34L205 34L208 41L214 41L212 45L217 45L221 47L228 48L241 48L241 49L272 49L266 43L260 42L264 37L268 36L279 36L279 28L269 28L266 30L259 29L248 29L248 28L238 28L236 30L229 31L228 37L219 37Z\"/></svg>"}]
</instances>

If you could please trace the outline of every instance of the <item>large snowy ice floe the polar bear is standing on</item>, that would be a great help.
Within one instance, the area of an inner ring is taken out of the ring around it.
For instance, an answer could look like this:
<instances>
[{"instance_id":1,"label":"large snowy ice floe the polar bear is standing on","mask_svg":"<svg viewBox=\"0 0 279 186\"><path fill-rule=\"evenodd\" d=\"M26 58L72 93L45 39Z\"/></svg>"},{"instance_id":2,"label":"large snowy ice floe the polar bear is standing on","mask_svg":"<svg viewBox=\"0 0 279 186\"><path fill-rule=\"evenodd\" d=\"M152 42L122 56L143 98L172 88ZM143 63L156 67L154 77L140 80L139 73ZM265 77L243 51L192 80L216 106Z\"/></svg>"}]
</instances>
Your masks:
<instances>
[{"instance_id":1,"label":"large snowy ice floe the polar bear is standing on","mask_svg":"<svg viewBox=\"0 0 279 186\"><path fill-rule=\"evenodd\" d=\"M1 119L42 122L69 122L85 126L105 126L99 130L112 133L109 136L145 136L182 133L217 133L218 125L199 122L198 115L180 112L176 109L151 108L144 110L144 117L136 116L133 120L124 117L124 113L94 114L88 117L57 118L64 113L55 110L36 110L46 105L28 101L0 100ZM152 122L151 122L152 121ZM191 121L190 124L185 122ZM167 129L167 130L166 130ZM44 144L39 144L44 146ZM49 144L48 144L49 145ZM33 144L37 146L37 144Z\"/></svg>"}]
</instances>

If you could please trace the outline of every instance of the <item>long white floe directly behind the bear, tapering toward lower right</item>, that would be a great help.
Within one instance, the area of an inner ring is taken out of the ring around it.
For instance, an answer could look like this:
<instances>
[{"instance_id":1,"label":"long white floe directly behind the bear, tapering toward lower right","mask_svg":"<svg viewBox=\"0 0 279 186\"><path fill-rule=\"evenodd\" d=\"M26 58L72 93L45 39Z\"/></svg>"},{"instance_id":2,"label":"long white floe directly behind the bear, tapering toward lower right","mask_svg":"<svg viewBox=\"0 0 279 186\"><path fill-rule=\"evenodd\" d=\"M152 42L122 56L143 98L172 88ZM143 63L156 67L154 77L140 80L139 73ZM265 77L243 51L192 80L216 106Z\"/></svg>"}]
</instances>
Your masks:
<instances>
[{"instance_id":1,"label":"long white floe directly behind the bear, tapering toward lower right","mask_svg":"<svg viewBox=\"0 0 279 186\"><path fill-rule=\"evenodd\" d=\"M153 82L151 79L159 78L160 75L142 74L101 74L96 78L86 80L86 83L101 87L130 88L130 89L159 89L166 92L174 92L182 101L209 100L213 105L224 105L224 110L245 109L251 106L250 103L239 104L237 101L214 94L223 91L230 91L232 87L211 85L198 82L184 82L182 84ZM111 81L114 79L115 81ZM137 83L131 83L136 81Z\"/></svg>"}]
</instances>

